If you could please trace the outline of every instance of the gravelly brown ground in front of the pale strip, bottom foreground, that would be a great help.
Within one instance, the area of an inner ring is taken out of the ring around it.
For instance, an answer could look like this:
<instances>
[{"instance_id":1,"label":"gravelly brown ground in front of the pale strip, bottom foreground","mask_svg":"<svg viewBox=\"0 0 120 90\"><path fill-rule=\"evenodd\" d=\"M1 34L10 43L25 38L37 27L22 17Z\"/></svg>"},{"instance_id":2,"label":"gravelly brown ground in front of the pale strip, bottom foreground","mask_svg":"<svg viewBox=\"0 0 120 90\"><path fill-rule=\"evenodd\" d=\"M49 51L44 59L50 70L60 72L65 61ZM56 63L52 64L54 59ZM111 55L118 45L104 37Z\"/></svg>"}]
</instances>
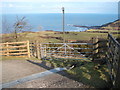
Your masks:
<instances>
[{"instance_id":1,"label":"gravelly brown ground in front of the pale strip, bottom foreground","mask_svg":"<svg viewBox=\"0 0 120 90\"><path fill-rule=\"evenodd\" d=\"M63 73L63 72L60 72ZM44 76L37 80L28 81L12 88L83 88L82 83L72 80L60 73Z\"/></svg>"}]
</instances>

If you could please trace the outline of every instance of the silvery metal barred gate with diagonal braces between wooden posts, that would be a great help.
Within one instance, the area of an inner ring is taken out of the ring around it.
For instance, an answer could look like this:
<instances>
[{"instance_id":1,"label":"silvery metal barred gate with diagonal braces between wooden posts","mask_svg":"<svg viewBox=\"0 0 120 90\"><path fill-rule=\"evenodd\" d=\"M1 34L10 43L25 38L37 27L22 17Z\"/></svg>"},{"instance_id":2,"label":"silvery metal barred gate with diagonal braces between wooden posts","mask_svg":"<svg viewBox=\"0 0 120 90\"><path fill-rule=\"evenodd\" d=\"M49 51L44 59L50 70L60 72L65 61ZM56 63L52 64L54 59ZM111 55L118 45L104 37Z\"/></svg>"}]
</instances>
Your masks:
<instances>
[{"instance_id":1,"label":"silvery metal barred gate with diagonal braces between wooden posts","mask_svg":"<svg viewBox=\"0 0 120 90\"><path fill-rule=\"evenodd\" d=\"M41 58L71 58L90 60L93 53L92 43L42 43Z\"/></svg>"}]
</instances>

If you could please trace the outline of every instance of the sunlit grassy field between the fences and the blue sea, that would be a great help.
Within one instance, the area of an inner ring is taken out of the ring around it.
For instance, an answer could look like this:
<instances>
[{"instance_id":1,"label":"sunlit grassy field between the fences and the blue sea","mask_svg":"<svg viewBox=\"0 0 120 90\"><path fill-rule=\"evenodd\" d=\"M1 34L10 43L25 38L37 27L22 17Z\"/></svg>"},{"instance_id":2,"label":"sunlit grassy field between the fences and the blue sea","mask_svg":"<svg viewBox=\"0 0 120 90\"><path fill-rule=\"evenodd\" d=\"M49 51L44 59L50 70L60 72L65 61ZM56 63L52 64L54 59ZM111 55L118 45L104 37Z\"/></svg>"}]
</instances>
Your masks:
<instances>
[{"instance_id":1,"label":"sunlit grassy field between the fences and the blue sea","mask_svg":"<svg viewBox=\"0 0 120 90\"><path fill-rule=\"evenodd\" d=\"M78 41L89 41L92 37L107 38L107 33L92 33L92 32L68 32L65 34L65 40L78 40ZM114 34L115 37L120 34ZM2 42L14 42L13 34L3 34ZM18 41L35 42L63 42L63 34L53 31L41 31L41 32L24 32L18 34Z\"/></svg>"}]
</instances>

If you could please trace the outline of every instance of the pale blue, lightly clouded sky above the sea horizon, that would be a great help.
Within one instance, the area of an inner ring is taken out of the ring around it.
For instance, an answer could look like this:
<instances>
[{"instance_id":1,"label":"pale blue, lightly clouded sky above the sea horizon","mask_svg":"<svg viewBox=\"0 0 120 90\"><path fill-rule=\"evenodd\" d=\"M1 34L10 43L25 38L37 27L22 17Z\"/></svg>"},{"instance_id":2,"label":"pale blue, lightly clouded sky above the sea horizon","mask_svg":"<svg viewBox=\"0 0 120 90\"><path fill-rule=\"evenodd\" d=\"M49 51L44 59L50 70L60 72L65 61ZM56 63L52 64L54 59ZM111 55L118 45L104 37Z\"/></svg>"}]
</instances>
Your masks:
<instances>
[{"instance_id":1,"label":"pale blue, lightly clouded sky above the sea horizon","mask_svg":"<svg viewBox=\"0 0 120 90\"><path fill-rule=\"evenodd\" d=\"M105 13L117 14L119 0L2 0L0 13Z\"/></svg>"}]
</instances>

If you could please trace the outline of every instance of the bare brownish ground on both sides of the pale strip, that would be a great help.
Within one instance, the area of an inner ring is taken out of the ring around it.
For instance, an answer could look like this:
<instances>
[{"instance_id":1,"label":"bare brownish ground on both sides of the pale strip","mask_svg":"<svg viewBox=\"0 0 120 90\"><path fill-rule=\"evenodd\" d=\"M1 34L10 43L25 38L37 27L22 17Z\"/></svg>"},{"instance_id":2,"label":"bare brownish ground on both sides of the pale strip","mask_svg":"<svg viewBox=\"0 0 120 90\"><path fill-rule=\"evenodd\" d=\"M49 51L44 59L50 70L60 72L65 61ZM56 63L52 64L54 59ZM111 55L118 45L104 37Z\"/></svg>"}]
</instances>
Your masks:
<instances>
[{"instance_id":1,"label":"bare brownish ground on both sides of the pale strip","mask_svg":"<svg viewBox=\"0 0 120 90\"><path fill-rule=\"evenodd\" d=\"M0 61L1 63L1 61ZM4 60L2 62L2 83L17 80L31 74L51 69L42 65L41 61L27 60ZM48 65L50 66L50 65ZM44 68L43 68L44 67ZM70 78L69 74L61 71L59 73L44 76L39 79L28 81L12 88L84 88L80 82Z\"/></svg>"}]
</instances>

